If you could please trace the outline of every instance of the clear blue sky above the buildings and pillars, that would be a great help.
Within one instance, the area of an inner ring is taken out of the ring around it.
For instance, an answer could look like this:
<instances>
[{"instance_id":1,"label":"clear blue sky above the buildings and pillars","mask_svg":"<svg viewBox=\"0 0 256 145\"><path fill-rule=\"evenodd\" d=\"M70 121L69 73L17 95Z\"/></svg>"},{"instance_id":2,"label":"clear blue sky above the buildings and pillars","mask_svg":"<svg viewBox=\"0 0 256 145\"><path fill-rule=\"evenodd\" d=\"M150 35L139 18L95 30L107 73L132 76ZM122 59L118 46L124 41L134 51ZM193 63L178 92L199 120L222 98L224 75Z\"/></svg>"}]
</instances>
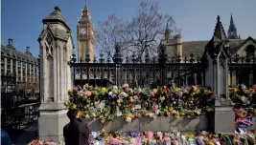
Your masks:
<instances>
[{"instance_id":1,"label":"clear blue sky above the buildings and pillars","mask_svg":"<svg viewBox=\"0 0 256 145\"><path fill-rule=\"evenodd\" d=\"M221 15L221 22L227 31L231 12L241 37L256 38L256 0L158 1L161 11L172 15L177 27L182 28L184 41L209 40L218 14ZM26 46L30 46L31 52L37 56L37 38L42 31L41 20L52 12L55 6L59 6L72 29L77 49L76 25L84 3L84 0L2 0L1 43L7 45L8 38L12 38L18 51L25 52ZM97 29L98 22L105 21L107 15L112 13L119 18L130 19L136 13L139 3L140 0L88 0L88 7Z\"/></svg>"}]
</instances>

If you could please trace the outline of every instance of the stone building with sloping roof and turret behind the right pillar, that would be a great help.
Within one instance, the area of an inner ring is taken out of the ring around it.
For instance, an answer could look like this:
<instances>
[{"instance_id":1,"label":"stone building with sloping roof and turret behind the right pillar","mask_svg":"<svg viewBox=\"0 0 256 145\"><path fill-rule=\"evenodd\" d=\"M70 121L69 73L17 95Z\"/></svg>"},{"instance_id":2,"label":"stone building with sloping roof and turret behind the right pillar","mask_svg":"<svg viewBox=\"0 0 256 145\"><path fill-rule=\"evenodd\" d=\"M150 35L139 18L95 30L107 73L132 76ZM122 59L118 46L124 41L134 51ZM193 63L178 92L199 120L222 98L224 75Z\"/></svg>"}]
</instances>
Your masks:
<instances>
[{"instance_id":1,"label":"stone building with sloping roof and turret behind the right pillar","mask_svg":"<svg viewBox=\"0 0 256 145\"><path fill-rule=\"evenodd\" d=\"M215 30L214 33L217 34L219 31L220 30ZM223 35L226 37L226 39L228 39L230 43L231 55L234 55L235 53L238 53L241 56L245 56L247 53L250 55L255 55L256 39L253 39L250 36L245 39L241 38L238 34L232 15L230 18L230 26L227 31L227 36L225 31L223 31ZM161 40L161 44L166 47L168 56L176 56L179 54L183 58L185 56L189 57L190 53L201 56L208 42L209 40L182 41L182 36L180 34L172 36L168 27L166 28L164 39Z\"/></svg>"}]
</instances>

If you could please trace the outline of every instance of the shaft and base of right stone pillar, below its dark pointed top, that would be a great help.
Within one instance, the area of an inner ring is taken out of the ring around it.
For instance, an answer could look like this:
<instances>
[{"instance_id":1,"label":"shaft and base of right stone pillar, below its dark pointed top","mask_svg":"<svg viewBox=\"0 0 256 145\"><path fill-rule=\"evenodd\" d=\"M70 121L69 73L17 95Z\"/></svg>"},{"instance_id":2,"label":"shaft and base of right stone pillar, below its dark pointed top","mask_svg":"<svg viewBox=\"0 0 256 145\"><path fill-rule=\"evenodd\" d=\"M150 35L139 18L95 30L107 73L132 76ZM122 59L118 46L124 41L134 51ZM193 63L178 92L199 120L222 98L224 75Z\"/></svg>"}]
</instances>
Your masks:
<instances>
[{"instance_id":1,"label":"shaft and base of right stone pillar, below its dark pointed top","mask_svg":"<svg viewBox=\"0 0 256 145\"><path fill-rule=\"evenodd\" d=\"M221 56L221 57L220 57ZM209 57L206 69L206 85L213 89L215 98L215 112L207 114L209 130L215 133L230 133L235 131L235 114L228 95L228 58L223 53L217 57Z\"/></svg>"}]
</instances>

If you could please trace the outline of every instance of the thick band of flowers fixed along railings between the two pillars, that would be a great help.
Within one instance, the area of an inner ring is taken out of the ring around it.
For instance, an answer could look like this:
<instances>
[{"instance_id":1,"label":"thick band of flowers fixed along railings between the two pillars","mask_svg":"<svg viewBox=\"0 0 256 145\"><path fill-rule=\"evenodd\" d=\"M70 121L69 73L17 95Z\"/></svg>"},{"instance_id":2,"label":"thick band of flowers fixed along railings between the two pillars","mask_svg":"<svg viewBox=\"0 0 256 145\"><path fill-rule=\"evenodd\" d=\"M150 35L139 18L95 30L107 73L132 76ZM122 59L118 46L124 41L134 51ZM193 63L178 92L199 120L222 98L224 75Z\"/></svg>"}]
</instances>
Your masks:
<instances>
[{"instance_id":1,"label":"thick band of flowers fixed along railings between the two pillars","mask_svg":"<svg viewBox=\"0 0 256 145\"><path fill-rule=\"evenodd\" d=\"M79 109L81 116L100 117L101 122L123 116L129 123L135 117L187 115L197 117L214 110L214 97L211 90L191 86L178 88L173 84L161 88L134 88L128 84L123 88L112 86L92 87L85 84L69 90L69 100L65 103L70 109Z\"/></svg>"}]
</instances>

